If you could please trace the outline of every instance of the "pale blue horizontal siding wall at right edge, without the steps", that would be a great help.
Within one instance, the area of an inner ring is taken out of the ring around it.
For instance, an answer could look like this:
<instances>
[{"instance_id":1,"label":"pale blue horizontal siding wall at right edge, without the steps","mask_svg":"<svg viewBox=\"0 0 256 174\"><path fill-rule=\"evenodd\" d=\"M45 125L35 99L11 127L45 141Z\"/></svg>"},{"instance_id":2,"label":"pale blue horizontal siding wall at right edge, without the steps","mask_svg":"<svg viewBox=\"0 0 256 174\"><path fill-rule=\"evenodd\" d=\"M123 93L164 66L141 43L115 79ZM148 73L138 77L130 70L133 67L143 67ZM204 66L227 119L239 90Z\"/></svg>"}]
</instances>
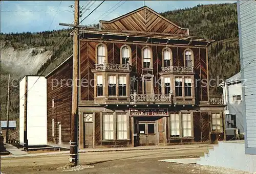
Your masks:
<instances>
[{"instance_id":1,"label":"pale blue horizontal siding wall at right edge, without the steps","mask_svg":"<svg viewBox=\"0 0 256 174\"><path fill-rule=\"evenodd\" d=\"M241 60L245 152L256 154L256 2L238 1L239 43Z\"/></svg>"}]
</instances>

